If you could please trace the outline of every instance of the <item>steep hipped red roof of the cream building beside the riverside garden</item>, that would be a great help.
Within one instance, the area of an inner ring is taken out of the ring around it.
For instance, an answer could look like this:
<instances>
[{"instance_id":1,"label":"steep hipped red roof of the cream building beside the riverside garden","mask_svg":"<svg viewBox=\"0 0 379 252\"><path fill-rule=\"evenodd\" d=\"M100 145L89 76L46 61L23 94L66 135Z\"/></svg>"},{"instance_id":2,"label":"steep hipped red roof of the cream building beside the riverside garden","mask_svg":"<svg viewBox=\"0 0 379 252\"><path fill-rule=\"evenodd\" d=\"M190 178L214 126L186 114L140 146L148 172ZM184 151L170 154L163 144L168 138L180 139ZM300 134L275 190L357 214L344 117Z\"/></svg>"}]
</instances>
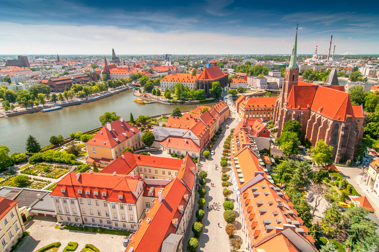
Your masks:
<instances>
[{"instance_id":1,"label":"steep hipped red roof of the cream building beside the riverside garden","mask_svg":"<svg viewBox=\"0 0 379 252\"><path fill-rule=\"evenodd\" d=\"M113 148L141 131L122 119L112 122L110 128L103 126L86 145Z\"/></svg>"}]
</instances>

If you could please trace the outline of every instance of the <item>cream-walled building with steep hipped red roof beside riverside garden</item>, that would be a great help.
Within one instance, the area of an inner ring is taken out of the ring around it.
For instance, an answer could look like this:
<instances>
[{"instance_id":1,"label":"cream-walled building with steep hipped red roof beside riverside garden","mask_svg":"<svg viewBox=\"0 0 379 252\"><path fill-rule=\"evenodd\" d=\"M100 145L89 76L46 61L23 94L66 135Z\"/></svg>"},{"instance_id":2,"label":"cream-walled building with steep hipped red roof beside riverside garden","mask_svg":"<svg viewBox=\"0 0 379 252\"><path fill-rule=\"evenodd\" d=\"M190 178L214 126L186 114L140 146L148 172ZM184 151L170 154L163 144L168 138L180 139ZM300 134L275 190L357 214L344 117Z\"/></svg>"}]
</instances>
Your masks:
<instances>
[{"instance_id":1,"label":"cream-walled building with steep hipped red roof beside riverside garden","mask_svg":"<svg viewBox=\"0 0 379 252\"><path fill-rule=\"evenodd\" d=\"M87 163L95 161L98 167L105 167L120 157L125 148L137 150L143 145L141 130L131 126L122 118L103 126L96 135L86 142Z\"/></svg>"}]
</instances>

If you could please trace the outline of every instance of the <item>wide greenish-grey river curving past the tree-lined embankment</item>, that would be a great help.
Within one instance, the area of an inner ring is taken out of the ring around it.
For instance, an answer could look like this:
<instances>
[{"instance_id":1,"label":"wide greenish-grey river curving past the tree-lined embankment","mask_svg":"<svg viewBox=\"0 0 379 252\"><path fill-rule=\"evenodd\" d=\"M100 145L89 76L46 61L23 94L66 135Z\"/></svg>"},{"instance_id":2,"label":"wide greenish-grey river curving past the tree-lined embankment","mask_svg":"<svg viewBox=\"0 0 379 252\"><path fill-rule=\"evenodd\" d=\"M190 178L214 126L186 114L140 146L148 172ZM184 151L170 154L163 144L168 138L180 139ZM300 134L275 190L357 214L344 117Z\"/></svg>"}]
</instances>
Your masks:
<instances>
[{"instance_id":1,"label":"wide greenish-grey river curving past the tree-lined embankment","mask_svg":"<svg viewBox=\"0 0 379 252\"><path fill-rule=\"evenodd\" d=\"M0 145L7 146L10 154L24 153L29 135L36 137L40 145L45 146L49 144L49 139L53 135L61 134L68 137L71 132L85 132L100 127L99 117L107 111L116 112L117 116L129 121L130 113L133 113L134 119L137 119L139 115L153 116L169 113L176 106L179 106L181 110L197 107L197 105L167 105L158 102L139 104L133 101L136 98L133 90L60 110L0 118Z\"/></svg>"}]
</instances>

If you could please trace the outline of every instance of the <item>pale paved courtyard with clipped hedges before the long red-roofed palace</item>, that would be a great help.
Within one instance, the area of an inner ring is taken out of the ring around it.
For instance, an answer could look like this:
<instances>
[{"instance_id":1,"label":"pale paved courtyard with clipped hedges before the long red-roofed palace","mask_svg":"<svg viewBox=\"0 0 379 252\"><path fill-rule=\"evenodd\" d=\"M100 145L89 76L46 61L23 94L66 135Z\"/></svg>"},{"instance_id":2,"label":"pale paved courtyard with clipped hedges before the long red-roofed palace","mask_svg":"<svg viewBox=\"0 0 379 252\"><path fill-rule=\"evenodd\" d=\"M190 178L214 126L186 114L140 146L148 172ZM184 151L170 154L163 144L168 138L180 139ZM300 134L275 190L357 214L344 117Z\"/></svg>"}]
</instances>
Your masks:
<instances>
[{"instance_id":1,"label":"pale paved courtyard with clipped hedges before the long red-roofed palace","mask_svg":"<svg viewBox=\"0 0 379 252\"><path fill-rule=\"evenodd\" d=\"M94 245L100 252L125 251L122 245L125 236L55 229L56 221L55 218L44 216L35 216L31 221L26 221L25 228L30 236L17 252L36 251L55 242L62 244L58 252L63 252L69 242L78 243L76 251L83 249L85 244Z\"/></svg>"}]
</instances>

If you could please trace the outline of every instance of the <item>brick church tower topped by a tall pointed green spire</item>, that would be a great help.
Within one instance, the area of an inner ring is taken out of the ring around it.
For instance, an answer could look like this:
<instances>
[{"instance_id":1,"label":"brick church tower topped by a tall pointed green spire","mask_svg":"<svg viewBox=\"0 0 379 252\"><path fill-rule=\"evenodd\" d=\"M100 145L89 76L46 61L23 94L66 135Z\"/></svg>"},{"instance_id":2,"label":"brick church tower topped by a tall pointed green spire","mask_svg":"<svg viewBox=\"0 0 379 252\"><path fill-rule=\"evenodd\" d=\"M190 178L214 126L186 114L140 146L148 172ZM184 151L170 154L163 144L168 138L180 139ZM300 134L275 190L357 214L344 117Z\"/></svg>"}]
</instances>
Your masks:
<instances>
[{"instance_id":1,"label":"brick church tower topped by a tall pointed green spire","mask_svg":"<svg viewBox=\"0 0 379 252\"><path fill-rule=\"evenodd\" d=\"M291 55L291 61L289 66L286 67L286 74L284 76L284 85L281 93L281 106L283 107L284 103L287 100L287 96L289 95L292 86L298 85L299 80L299 67L296 63L297 61L297 47L298 47L298 27L296 27L296 35L295 35L295 42L294 42L294 48L292 49L292 55Z\"/></svg>"}]
</instances>

